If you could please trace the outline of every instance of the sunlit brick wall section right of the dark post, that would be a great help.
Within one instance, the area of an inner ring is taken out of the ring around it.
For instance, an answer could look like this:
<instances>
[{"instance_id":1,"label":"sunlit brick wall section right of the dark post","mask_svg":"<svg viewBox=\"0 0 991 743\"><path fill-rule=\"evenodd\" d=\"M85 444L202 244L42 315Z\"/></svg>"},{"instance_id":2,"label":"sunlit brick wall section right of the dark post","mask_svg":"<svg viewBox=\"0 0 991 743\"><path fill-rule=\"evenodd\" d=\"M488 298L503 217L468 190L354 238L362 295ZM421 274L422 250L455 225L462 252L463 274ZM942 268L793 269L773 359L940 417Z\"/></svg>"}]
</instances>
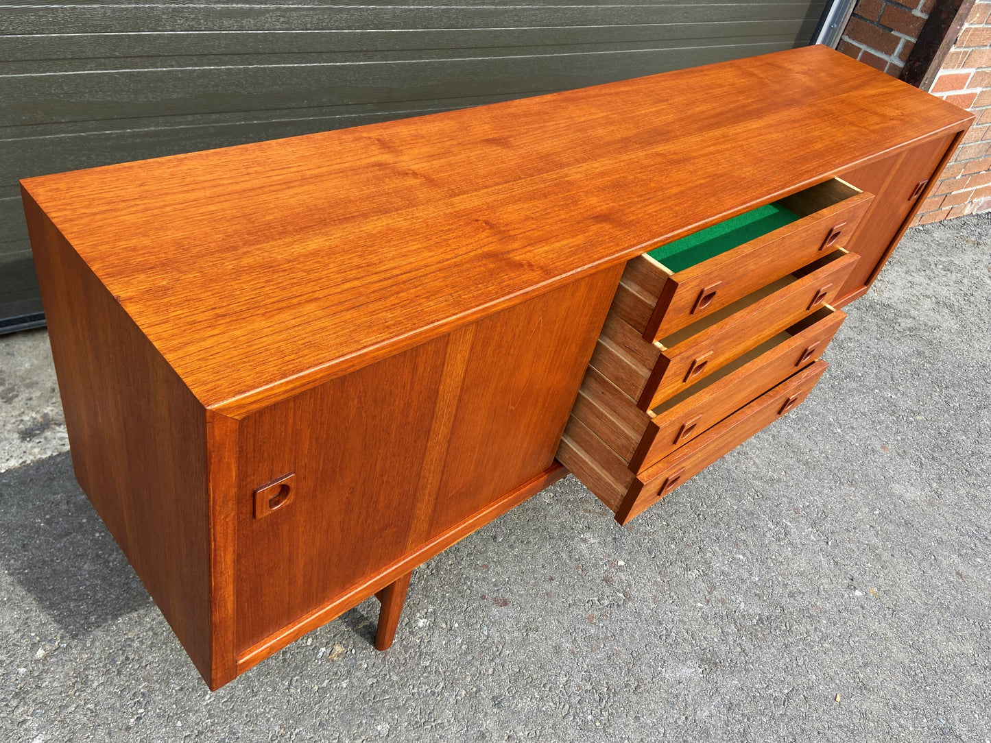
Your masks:
<instances>
[{"instance_id":1,"label":"sunlit brick wall section right of the dark post","mask_svg":"<svg viewBox=\"0 0 991 743\"><path fill-rule=\"evenodd\" d=\"M991 211L991 0L978 0L930 92L976 117L915 224Z\"/></svg>"}]
</instances>

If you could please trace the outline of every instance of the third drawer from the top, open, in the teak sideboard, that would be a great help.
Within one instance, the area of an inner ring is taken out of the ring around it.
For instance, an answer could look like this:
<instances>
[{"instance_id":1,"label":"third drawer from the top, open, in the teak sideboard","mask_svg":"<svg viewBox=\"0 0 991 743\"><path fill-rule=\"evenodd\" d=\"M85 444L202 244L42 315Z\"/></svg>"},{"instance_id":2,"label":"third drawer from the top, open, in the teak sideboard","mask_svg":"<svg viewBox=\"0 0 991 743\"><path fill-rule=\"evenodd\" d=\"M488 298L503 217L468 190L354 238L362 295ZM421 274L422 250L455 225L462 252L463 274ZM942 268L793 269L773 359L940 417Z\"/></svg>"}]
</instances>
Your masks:
<instances>
[{"instance_id":1,"label":"third drawer from the top, open, in the teak sideboard","mask_svg":"<svg viewBox=\"0 0 991 743\"><path fill-rule=\"evenodd\" d=\"M638 474L819 359L845 318L824 307L647 412L590 367L572 418Z\"/></svg>"}]
</instances>

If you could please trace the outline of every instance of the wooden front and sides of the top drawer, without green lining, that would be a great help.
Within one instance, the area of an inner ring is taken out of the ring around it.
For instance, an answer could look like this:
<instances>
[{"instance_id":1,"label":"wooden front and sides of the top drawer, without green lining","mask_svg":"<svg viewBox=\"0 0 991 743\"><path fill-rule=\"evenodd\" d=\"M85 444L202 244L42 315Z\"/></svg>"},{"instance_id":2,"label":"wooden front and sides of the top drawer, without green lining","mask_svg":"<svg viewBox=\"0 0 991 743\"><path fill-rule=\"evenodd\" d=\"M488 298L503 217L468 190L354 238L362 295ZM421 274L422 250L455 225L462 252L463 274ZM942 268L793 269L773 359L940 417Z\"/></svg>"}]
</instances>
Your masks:
<instances>
[{"instance_id":1,"label":"wooden front and sides of the top drawer, without green lining","mask_svg":"<svg viewBox=\"0 0 991 743\"><path fill-rule=\"evenodd\" d=\"M801 219L677 272L647 255L628 262L613 311L656 340L843 247L873 196L832 178L781 199Z\"/></svg>"}]
</instances>

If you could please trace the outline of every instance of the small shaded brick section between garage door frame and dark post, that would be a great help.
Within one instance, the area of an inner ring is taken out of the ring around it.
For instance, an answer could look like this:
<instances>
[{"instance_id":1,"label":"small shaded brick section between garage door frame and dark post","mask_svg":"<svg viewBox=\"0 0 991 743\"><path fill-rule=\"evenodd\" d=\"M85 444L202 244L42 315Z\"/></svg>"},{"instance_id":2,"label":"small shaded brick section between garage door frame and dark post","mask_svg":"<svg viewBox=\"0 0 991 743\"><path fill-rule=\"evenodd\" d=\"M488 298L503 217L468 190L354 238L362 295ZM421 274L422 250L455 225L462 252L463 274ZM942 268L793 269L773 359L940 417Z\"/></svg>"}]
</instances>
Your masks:
<instances>
[{"instance_id":1,"label":"small shaded brick section between garage door frame and dark post","mask_svg":"<svg viewBox=\"0 0 991 743\"><path fill-rule=\"evenodd\" d=\"M935 0L860 0L837 50L898 77Z\"/></svg>"}]
</instances>

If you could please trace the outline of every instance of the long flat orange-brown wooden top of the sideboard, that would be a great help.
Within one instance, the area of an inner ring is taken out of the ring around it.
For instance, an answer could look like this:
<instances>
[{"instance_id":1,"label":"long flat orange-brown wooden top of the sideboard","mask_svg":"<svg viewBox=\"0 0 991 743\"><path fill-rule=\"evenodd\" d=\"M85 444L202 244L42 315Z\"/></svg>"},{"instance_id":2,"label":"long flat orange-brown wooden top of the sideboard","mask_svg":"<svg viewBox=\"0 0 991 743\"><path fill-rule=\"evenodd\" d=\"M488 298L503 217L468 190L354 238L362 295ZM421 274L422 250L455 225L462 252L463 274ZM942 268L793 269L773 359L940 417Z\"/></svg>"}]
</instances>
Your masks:
<instances>
[{"instance_id":1,"label":"long flat orange-brown wooden top of the sideboard","mask_svg":"<svg viewBox=\"0 0 991 743\"><path fill-rule=\"evenodd\" d=\"M22 185L241 417L970 118L807 47Z\"/></svg>"}]
</instances>

